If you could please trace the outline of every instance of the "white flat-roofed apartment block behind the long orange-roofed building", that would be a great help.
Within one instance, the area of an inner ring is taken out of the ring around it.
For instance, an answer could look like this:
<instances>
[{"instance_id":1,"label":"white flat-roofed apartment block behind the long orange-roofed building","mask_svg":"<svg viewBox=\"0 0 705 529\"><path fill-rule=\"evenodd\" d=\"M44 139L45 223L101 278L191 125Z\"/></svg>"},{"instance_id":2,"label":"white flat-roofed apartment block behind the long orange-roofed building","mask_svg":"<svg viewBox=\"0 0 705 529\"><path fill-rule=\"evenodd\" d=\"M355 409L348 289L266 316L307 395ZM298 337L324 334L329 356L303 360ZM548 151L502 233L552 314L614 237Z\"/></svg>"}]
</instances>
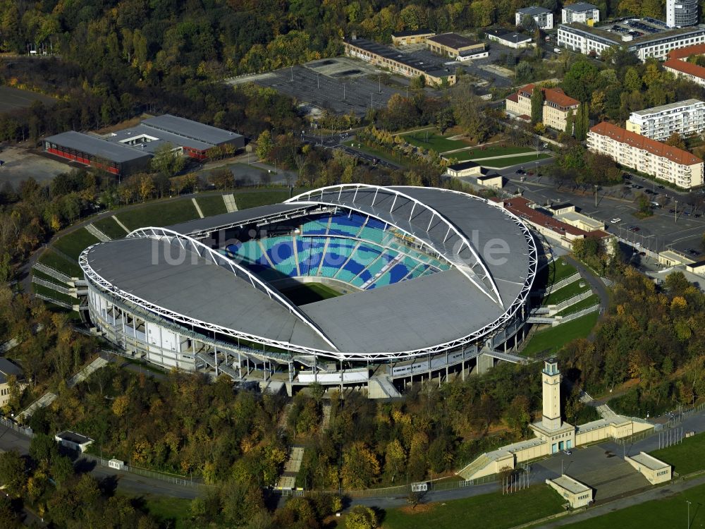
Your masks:
<instances>
[{"instance_id":1,"label":"white flat-roofed apartment block behind the long orange-roofed building","mask_svg":"<svg viewBox=\"0 0 705 529\"><path fill-rule=\"evenodd\" d=\"M632 112L627 120L627 130L659 141L668 140L673 133L682 136L699 134L705 130L705 102L686 99Z\"/></svg>"}]
</instances>

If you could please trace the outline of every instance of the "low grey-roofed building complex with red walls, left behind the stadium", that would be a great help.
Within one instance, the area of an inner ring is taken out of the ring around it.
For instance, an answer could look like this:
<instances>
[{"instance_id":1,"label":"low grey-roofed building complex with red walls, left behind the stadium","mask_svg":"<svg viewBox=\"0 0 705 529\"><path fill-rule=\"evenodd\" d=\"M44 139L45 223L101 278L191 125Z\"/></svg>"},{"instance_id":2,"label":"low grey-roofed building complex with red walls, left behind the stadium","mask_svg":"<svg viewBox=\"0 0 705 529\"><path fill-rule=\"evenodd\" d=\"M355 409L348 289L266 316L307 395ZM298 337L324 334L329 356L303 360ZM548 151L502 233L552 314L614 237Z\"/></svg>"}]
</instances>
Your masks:
<instances>
[{"instance_id":1,"label":"low grey-roofed building complex with red walls, left behind the stadium","mask_svg":"<svg viewBox=\"0 0 705 529\"><path fill-rule=\"evenodd\" d=\"M238 150L245 137L229 130L164 114L105 136L69 130L44 140L44 150L83 165L127 175L149 169L159 147L169 145L185 156L202 160L213 147Z\"/></svg>"}]
</instances>

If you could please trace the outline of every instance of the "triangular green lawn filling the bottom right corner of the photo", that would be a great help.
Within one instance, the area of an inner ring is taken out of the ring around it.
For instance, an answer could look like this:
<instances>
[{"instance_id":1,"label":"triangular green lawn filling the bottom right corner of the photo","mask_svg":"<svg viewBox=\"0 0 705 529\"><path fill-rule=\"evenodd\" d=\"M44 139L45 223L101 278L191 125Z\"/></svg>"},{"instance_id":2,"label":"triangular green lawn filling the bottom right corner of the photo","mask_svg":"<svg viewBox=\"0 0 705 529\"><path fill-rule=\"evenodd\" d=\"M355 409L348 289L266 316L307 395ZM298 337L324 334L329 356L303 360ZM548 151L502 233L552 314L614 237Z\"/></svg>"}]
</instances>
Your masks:
<instances>
[{"instance_id":1,"label":"triangular green lawn filling the bottom right corner of the photo","mask_svg":"<svg viewBox=\"0 0 705 529\"><path fill-rule=\"evenodd\" d=\"M691 529L705 526L705 485L673 494L663 499L645 501L642 504L613 511L603 516L590 518L578 523L566 525L573 529L672 529L687 527ZM686 501L691 501L690 519ZM686 525L682 525L683 522Z\"/></svg>"}]
</instances>

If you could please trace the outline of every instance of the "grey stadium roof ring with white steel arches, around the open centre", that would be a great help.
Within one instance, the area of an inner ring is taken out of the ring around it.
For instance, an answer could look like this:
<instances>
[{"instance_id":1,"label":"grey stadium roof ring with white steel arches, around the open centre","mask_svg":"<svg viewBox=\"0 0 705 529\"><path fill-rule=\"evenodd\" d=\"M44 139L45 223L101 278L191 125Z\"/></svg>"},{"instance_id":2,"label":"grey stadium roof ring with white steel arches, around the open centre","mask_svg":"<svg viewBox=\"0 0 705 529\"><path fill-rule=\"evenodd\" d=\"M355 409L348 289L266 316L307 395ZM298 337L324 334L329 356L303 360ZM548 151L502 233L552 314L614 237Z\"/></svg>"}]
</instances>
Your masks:
<instances>
[{"instance_id":1,"label":"grey stadium roof ring with white steel arches, around the open centre","mask_svg":"<svg viewBox=\"0 0 705 529\"><path fill-rule=\"evenodd\" d=\"M187 235L333 207L391 224L436 249L454 267L293 307L286 297L277 297L276 288L258 286L228 258L207 245L198 248ZM508 253L496 251L502 245ZM154 259L179 250L187 258ZM293 353L403 359L445 351L500 329L528 296L536 248L519 219L482 198L435 188L350 184L173 229L141 229L92 246L81 262L100 286L189 329L261 339Z\"/></svg>"}]
</instances>

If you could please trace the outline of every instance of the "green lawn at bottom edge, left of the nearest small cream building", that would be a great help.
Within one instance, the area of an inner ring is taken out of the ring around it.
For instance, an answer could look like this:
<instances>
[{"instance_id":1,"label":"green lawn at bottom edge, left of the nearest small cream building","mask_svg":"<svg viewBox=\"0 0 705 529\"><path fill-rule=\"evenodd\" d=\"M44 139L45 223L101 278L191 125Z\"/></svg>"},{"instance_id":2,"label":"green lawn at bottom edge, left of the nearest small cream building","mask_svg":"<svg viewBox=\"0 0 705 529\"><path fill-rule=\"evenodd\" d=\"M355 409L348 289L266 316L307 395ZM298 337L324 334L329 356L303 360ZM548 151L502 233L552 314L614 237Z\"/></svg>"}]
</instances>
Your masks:
<instances>
[{"instance_id":1,"label":"green lawn at bottom edge, left of the nearest small cream building","mask_svg":"<svg viewBox=\"0 0 705 529\"><path fill-rule=\"evenodd\" d=\"M502 529L544 518L563 510L563 498L546 485L503 496L501 492L465 499L389 509L384 513L382 529L434 528L460 529L482 527Z\"/></svg>"}]
</instances>

